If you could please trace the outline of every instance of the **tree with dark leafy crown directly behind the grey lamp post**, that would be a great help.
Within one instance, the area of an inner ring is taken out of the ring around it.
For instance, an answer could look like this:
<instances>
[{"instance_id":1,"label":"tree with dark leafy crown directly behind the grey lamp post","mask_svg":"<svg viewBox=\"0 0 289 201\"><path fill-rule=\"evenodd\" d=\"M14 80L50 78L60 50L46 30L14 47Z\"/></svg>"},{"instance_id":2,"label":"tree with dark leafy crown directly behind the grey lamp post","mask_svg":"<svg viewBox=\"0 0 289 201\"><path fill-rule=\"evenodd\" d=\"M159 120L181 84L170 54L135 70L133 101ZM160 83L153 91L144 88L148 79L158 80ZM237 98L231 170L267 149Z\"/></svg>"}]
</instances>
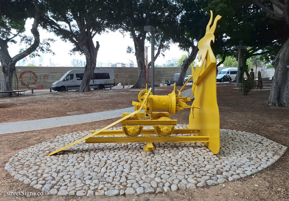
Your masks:
<instances>
[{"instance_id":1,"label":"tree with dark leafy crown directly behind the grey lamp post","mask_svg":"<svg viewBox=\"0 0 289 201\"><path fill-rule=\"evenodd\" d=\"M134 53L138 64L138 79L132 88L145 87L145 40L150 40L149 34L144 31L144 26L154 26L160 28L163 33L156 36L158 55L167 49L170 43L170 36L166 33L165 27L169 26L174 29L177 23L177 16L181 13L178 4L169 0L149 1L149 0L126 0L110 2L114 13L114 24L119 28L120 32L129 32L134 42ZM132 48L128 49L132 52ZM148 64L148 67L150 63Z\"/></svg>"}]
</instances>

